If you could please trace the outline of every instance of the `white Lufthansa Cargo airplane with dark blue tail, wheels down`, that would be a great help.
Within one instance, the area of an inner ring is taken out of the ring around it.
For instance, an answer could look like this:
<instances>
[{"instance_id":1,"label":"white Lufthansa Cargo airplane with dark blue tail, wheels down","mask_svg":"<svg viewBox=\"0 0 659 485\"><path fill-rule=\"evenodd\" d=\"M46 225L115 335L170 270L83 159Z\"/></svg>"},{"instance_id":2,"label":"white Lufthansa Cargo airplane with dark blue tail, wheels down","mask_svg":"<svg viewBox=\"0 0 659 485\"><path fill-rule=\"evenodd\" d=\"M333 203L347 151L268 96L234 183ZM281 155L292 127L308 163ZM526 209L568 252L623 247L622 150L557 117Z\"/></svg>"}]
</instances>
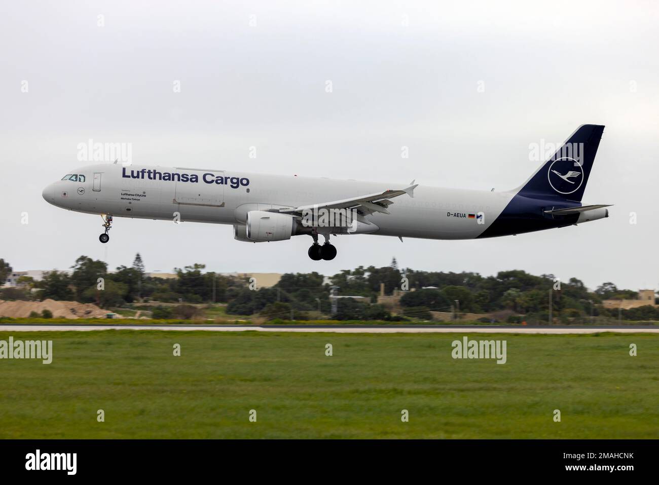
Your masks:
<instances>
[{"instance_id":1,"label":"white Lufthansa Cargo airplane with dark blue tail, wheels down","mask_svg":"<svg viewBox=\"0 0 659 485\"><path fill-rule=\"evenodd\" d=\"M330 236L482 239L608 217L610 204L581 203L603 132L581 125L523 185L498 192L115 161L70 171L43 198L101 215L101 243L114 217L205 222L233 225L234 238L247 243L309 235L308 256L332 260Z\"/></svg>"}]
</instances>

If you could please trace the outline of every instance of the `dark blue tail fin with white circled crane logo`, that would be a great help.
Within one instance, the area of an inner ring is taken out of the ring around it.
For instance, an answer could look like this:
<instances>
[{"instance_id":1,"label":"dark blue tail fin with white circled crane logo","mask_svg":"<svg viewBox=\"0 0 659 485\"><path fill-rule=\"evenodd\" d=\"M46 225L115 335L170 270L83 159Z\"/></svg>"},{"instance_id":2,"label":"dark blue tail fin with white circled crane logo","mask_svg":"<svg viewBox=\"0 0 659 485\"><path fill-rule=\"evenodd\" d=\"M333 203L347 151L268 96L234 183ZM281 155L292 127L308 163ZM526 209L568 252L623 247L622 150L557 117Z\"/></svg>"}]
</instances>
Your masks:
<instances>
[{"instance_id":1,"label":"dark blue tail fin with white circled crane logo","mask_svg":"<svg viewBox=\"0 0 659 485\"><path fill-rule=\"evenodd\" d=\"M581 202L602 132L603 125L581 125L517 193Z\"/></svg>"}]
</instances>

